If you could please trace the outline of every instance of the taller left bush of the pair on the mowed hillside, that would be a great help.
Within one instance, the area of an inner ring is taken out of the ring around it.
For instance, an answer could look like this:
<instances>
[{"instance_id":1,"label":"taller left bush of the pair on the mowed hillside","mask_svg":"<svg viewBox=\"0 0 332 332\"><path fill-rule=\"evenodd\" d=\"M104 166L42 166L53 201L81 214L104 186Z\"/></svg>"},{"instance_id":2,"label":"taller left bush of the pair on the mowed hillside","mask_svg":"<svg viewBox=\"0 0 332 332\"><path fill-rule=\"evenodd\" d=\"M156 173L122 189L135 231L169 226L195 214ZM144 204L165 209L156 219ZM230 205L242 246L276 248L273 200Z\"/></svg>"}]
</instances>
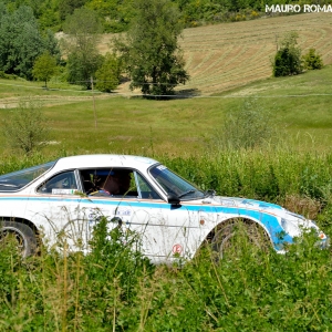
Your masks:
<instances>
[{"instance_id":1,"label":"taller left bush of the pair on the mowed hillside","mask_svg":"<svg viewBox=\"0 0 332 332\"><path fill-rule=\"evenodd\" d=\"M302 72L301 49L297 46L298 33L287 33L274 55L273 76L295 75Z\"/></svg>"}]
</instances>

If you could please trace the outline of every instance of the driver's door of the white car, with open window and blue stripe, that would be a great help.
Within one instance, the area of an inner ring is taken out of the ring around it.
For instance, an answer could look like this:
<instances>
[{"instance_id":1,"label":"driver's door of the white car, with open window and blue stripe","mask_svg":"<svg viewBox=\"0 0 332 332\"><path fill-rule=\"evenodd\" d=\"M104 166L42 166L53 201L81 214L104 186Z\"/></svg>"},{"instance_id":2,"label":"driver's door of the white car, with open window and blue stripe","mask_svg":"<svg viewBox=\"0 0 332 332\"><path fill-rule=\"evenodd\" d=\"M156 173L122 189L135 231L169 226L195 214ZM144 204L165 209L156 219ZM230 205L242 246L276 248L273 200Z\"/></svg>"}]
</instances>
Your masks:
<instances>
[{"instance_id":1,"label":"driver's door of the white car, with open window and blue stripe","mask_svg":"<svg viewBox=\"0 0 332 332\"><path fill-rule=\"evenodd\" d=\"M98 193L96 184L103 183L103 176L111 169L84 169L81 177L89 195L89 222L97 222L102 216L110 221L110 228L121 226L126 232L137 237L139 250L153 261L165 261L173 256L181 256L186 250L188 237L188 211L177 210L160 198L157 190L137 170L131 169L131 187L122 196ZM116 173L116 168L112 168ZM93 188L93 189L91 189Z\"/></svg>"}]
</instances>

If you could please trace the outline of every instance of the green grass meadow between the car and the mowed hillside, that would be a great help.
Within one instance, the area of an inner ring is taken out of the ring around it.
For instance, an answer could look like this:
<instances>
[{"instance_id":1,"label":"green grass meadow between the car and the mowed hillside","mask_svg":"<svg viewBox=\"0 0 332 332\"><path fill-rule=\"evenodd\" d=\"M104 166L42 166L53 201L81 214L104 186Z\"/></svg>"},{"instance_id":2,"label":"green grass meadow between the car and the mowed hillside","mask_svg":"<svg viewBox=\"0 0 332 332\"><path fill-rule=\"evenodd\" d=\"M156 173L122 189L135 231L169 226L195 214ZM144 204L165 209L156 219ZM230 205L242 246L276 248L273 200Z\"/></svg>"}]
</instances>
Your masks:
<instances>
[{"instance_id":1,"label":"green grass meadow between the car and the mowed hillside","mask_svg":"<svg viewBox=\"0 0 332 332\"><path fill-rule=\"evenodd\" d=\"M286 131L284 143L324 151L331 146L331 81L332 68L325 66L298 76L260 80L211 96L149 101L116 94L93 96L72 87L45 91L41 83L0 80L0 113L1 117L10 116L24 96L39 100L50 120L52 151L146 154L153 149L181 155L205 151L229 113L256 100L278 131ZM6 85L9 83L14 86Z\"/></svg>"}]
</instances>

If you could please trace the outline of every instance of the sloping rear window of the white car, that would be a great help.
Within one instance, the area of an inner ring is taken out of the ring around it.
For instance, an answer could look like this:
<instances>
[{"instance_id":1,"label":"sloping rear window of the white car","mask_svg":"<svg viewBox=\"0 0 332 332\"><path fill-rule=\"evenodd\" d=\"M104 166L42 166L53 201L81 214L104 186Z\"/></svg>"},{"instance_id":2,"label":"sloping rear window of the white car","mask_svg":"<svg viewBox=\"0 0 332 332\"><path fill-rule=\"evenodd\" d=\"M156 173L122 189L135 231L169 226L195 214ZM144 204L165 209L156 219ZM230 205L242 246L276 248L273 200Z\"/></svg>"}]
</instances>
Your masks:
<instances>
[{"instance_id":1,"label":"sloping rear window of the white car","mask_svg":"<svg viewBox=\"0 0 332 332\"><path fill-rule=\"evenodd\" d=\"M33 181L40 175L53 167L56 162L50 162L39 166L0 176L0 191L17 191Z\"/></svg>"}]
</instances>

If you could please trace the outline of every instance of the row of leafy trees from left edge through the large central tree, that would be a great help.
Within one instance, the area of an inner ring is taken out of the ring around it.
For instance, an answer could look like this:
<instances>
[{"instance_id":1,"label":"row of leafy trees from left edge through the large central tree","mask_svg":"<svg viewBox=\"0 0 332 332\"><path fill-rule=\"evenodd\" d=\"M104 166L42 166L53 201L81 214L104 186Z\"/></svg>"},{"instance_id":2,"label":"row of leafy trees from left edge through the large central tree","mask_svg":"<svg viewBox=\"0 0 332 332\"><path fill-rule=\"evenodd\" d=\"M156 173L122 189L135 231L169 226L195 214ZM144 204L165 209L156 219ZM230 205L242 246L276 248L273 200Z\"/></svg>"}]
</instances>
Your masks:
<instances>
[{"instance_id":1,"label":"row of leafy trees from left edge through the large central tree","mask_svg":"<svg viewBox=\"0 0 332 332\"><path fill-rule=\"evenodd\" d=\"M143 94L174 94L189 79L177 43L183 24L169 0L137 0L127 33L113 41L110 52L97 50L103 25L89 7L76 8L62 27L64 38L41 29L31 7L9 9L0 2L0 77L60 81L112 92L122 79ZM111 51L112 49L112 51Z\"/></svg>"}]
</instances>

